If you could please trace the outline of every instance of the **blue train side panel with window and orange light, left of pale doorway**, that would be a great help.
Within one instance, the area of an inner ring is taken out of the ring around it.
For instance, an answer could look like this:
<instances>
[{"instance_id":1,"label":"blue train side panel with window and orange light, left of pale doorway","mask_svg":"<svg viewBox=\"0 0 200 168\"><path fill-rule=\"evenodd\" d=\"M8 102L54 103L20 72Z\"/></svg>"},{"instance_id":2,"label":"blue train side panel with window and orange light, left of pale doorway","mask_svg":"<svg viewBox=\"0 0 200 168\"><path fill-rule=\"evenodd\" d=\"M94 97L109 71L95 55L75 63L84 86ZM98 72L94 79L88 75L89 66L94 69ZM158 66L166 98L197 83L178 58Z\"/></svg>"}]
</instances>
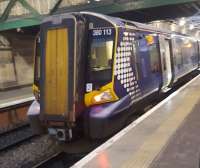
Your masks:
<instances>
[{"instance_id":1,"label":"blue train side panel with window and orange light, left of pale doorway","mask_svg":"<svg viewBox=\"0 0 200 168\"><path fill-rule=\"evenodd\" d=\"M161 83L158 38L151 34L142 36L140 34L137 43L137 60L139 61L139 66L136 65L139 67L137 76L139 76L138 81L142 94L147 96L158 91Z\"/></svg>"}]
</instances>

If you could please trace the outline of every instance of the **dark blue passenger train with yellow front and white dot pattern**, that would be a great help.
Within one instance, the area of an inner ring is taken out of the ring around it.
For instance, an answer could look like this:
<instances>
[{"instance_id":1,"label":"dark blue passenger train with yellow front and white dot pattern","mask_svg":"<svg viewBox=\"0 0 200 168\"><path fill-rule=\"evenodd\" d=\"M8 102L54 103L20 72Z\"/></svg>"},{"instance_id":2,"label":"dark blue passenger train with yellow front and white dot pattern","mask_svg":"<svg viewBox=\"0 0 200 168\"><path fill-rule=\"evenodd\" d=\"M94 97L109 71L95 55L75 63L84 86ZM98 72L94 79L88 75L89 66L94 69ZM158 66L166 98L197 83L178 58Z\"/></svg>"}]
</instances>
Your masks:
<instances>
[{"instance_id":1,"label":"dark blue passenger train with yellow front and white dot pattern","mask_svg":"<svg viewBox=\"0 0 200 168\"><path fill-rule=\"evenodd\" d=\"M48 16L35 48L28 118L59 142L112 136L200 64L195 37L93 12Z\"/></svg>"}]
</instances>

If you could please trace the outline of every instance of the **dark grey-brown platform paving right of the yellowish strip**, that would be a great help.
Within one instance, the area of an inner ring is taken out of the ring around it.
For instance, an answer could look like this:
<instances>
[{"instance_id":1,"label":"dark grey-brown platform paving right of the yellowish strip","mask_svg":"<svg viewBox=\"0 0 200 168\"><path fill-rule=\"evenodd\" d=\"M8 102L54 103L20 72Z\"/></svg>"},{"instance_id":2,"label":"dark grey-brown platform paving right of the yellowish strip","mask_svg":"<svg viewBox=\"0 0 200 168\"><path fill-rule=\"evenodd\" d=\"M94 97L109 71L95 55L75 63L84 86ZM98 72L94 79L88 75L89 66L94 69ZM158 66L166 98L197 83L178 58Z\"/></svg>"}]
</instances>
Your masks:
<instances>
[{"instance_id":1,"label":"dark grey-brown platform paving right of the yellowish strip","mask_svg":"<svg viewBox=\"0 0 200 168\"><path fill-rule=\"evenodd\" d=\"M150 168L200 168L200 102Z\"/></svg>"}]
</instances>

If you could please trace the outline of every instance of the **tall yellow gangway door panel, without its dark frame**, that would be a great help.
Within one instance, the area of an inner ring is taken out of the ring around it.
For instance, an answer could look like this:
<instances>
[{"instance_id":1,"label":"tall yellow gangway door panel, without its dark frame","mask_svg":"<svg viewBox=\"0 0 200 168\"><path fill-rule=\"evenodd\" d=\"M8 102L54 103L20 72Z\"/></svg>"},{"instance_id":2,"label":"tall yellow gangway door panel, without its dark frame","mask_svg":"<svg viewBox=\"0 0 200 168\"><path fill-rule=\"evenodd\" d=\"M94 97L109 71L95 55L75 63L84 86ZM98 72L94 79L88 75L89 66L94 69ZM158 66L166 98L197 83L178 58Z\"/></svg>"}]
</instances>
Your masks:
<instances>
[{"instance_id":1,"label":"tall yellow gangway door panel, without its dark frame","mask_svg":"<svg viewBox=\"0 0 200 168\"><path fill-rule=\"evenodd\" d=\"M47 31L44 80L44 112L63 116L68 107L68 30Z\"/></svg>"}]
</instances>

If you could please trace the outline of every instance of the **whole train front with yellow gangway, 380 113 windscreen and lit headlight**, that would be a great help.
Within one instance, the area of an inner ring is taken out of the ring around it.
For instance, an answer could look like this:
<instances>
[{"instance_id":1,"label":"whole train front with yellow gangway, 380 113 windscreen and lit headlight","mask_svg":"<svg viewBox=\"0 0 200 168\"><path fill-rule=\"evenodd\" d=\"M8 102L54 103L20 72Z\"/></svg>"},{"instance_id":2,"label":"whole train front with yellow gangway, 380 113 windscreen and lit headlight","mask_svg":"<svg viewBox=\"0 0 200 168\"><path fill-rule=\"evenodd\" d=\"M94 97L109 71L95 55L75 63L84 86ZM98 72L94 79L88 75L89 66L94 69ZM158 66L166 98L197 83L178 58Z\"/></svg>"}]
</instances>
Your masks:
<instances>
[{"instance_id":1,"label":"whole train front with yellow gangway, 380 113 windscreen and lit headlight","mask_svg":"<svg viewBox=\"0 0 200 168\"><path fill-rule=\"evenodd\" d=\"M77 120L87 115L91 106L118 100L112 75L115 38L113 24L98 15L64 14L42 23L41 58L35 61L35 69L40 63L40 73L35 71L40 82L35 80L33 87L39 104L32 104L29 116L37 111L50 135L71 140Z\"/></svg>"}]
</instances>

